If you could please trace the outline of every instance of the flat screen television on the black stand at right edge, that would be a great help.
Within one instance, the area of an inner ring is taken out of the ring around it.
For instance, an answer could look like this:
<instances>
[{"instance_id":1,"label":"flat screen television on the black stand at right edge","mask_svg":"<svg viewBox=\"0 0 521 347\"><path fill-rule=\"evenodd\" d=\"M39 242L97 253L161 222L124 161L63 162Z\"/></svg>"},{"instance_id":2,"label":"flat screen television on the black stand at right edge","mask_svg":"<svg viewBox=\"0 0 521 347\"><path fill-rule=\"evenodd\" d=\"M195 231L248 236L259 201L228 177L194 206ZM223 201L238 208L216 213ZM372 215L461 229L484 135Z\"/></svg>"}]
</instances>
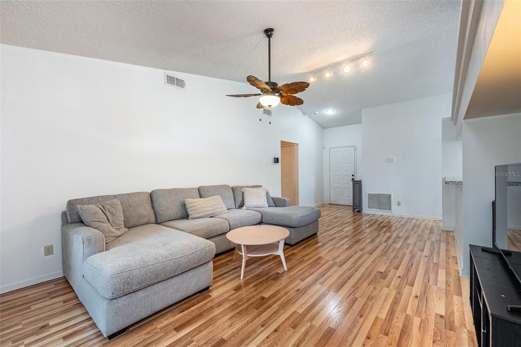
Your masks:
<instances>
[{"instance_id":1,"label":"flat screen television on the black stand at right edge","mask_svg":"<svg viewBox=\"0 0 521 347\"><path fill-rule=\"evenodd\" d=\"M492 202L492 247L505 259L521 285L521 263L512 251L521 252L521 163L497 165Z\"/></svg>"}]
</instances>

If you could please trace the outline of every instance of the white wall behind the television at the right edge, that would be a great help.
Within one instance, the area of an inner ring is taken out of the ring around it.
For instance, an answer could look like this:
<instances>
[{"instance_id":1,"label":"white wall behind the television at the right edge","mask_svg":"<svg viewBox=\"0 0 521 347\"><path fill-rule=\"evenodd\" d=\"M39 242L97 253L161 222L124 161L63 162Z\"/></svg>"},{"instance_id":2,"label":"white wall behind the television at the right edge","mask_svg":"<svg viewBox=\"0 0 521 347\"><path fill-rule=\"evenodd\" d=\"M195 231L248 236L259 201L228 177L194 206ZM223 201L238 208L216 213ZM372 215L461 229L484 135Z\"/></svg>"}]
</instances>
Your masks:
<instances>
[{"instance_id":1,"label":"white wall behind the television at the right edge","mask_svg":"<svg viewBox=\"0 0 521 347\"><path fill-rule=\"evenodd\" d=\"M463 259L468 276L468 245L491 246L494 166L521 162L521 113L465 120L463 136Z\"/></svg>"}]
</instances>

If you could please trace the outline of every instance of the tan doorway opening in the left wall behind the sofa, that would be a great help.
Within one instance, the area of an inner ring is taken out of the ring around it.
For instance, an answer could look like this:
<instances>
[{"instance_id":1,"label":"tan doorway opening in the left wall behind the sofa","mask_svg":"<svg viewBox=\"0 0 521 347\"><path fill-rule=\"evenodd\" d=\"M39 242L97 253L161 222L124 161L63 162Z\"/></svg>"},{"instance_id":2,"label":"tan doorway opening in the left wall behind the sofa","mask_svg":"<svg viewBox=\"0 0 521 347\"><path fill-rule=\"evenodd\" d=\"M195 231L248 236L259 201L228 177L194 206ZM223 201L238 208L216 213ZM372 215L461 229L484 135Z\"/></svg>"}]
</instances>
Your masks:
<instances>
[{"instance_id":1,"label":"tan doorway opening in the left wall behind the sofa","mask_svg":"<svg viewBox=\"0 0 521 347\"><path fill-rule=\"evenodd\" d=\"M292 206L299 204L299 144L280 142L280 187Z\"/></svg>"}]
</instances>

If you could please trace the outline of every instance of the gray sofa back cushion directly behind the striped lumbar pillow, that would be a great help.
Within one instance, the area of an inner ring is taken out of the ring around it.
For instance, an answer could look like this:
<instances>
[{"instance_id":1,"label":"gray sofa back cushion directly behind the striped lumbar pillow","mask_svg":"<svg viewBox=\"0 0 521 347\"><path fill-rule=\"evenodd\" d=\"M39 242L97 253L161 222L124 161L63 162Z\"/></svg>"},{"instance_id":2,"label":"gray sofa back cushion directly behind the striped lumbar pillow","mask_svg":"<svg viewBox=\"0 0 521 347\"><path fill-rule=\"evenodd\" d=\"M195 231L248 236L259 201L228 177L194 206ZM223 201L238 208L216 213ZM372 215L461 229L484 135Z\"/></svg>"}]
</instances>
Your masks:
<instances>
[{"instance_id":1,"label":"gray sofa back cushion directly behind the striped lumbar pillow","mask_svg":"<svg viewBox=\"0 0 521 347\"><path fill-rule=\"evenodd\" d=\"M187 218L185 199L200 198L197 188L154 189L150 192L156 223Z\"/></svg>"}]
</instances>

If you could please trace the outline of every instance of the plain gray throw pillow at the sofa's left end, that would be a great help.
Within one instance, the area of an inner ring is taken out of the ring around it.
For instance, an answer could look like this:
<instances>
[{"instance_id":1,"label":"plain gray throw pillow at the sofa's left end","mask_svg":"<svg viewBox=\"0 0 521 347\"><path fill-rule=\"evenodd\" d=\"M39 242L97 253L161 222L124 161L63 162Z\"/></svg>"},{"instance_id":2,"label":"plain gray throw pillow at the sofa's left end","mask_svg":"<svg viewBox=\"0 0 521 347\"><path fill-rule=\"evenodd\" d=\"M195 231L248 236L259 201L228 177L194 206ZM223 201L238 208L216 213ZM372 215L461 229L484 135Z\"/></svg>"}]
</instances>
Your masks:
<instances>
[{"instance_id":1,"label":"plain gray throw pillow at the sofa's left end","mask_svg":"<svg viewBox=\"0 0 521 347\"><path fill-rule=\"evenodd\" d=\"M123 223L123 209L118 199L95 205L78 205L81 220L91 228L100 230L105 243L113 241L128 232Z\"/></svg>"}]
</instances>

